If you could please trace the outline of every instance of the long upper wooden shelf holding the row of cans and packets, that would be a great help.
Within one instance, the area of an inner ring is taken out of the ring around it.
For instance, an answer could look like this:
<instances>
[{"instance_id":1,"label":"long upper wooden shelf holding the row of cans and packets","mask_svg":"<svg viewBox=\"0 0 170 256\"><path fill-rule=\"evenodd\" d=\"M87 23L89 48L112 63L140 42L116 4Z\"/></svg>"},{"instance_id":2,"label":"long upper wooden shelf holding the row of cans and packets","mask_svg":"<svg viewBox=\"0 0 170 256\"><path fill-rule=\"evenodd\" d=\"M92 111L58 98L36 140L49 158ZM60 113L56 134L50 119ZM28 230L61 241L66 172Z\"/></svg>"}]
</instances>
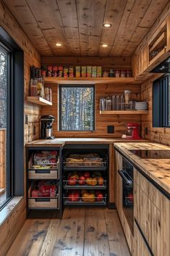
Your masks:
<instances>
[{"instance_id":1,"label":"long upper wooden shelf holding the row of cans and packets","mask_svg":"<svg viewBox=\"0 0 170 256\"><path fill-rule=\"evenodd\" d=\"M134 78L44 78L45 83L139 83Z\"/></svg>"}]
</instances>

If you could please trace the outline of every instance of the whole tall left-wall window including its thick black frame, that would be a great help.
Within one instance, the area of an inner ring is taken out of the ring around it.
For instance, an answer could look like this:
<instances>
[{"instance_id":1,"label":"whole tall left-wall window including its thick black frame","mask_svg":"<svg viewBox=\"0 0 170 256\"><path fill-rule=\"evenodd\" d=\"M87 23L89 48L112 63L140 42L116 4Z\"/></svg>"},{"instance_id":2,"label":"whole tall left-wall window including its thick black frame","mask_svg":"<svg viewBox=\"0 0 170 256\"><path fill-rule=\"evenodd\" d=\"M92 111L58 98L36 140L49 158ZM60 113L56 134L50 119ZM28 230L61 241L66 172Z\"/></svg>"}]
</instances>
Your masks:
<instances>
[{"instance_id":1,"label":"whole tall left-wall window including its thick black frame","mask_svg":"<svg viewBox=\"0 0 170 256\"><path fill-rule=\"evenodd\" d=\"M0 210L24 194L23 111L24 53L0 26Z\"/></svg>"}]
</instances>

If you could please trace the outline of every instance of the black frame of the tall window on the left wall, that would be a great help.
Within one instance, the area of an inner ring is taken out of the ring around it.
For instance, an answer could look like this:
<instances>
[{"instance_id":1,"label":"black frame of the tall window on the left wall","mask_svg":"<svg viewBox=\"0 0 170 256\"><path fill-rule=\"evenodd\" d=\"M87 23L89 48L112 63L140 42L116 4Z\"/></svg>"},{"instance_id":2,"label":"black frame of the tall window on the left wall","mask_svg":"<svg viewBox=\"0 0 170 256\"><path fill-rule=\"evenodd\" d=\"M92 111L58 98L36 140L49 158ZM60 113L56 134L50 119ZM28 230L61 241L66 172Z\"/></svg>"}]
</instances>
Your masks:
<instances>
[{"instance_id":1,"label":"black frame of the tall window on the left wall","mask_svg":"<svg viewBox=\"0 0 170 256\"><path fill-rule=\"evenodd\" d=\"M24 51L0 26L0 45L9 53L7 125L9 156L7 158L7 199L24 196Z\"/></svg>"}]
</instances>

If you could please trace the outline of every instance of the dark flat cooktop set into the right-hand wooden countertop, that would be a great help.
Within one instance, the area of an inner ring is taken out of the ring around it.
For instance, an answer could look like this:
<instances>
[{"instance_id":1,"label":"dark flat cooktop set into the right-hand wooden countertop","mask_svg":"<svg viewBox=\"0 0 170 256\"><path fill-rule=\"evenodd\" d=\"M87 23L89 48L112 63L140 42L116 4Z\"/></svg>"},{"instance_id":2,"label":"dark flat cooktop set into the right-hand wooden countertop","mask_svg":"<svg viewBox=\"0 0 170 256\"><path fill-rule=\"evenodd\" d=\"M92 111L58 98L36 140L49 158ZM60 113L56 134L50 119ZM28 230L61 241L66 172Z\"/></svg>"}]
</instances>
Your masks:
<instances>
[{"instance_id":1,"label":"dark flat cooktop set into the right-hand wooden countertop","mask_svg":"<svg viewBox=\"0 0 170 256\"><path fill-rule=\"evenodd\" d=\"M140 149L140 150L129 150L137 157L143 159L170 159L170 150L153 150L153 149Z\"/></svg>"}]
</instances>

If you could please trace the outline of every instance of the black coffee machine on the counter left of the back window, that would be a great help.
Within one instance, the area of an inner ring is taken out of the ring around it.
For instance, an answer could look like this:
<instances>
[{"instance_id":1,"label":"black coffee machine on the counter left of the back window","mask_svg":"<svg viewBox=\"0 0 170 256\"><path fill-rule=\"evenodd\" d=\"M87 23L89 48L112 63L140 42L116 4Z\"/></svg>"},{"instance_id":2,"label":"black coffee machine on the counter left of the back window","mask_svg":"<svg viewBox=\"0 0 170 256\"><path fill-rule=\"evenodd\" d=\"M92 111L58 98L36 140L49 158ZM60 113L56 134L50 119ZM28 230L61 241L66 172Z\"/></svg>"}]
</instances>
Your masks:
<instances>
[{"instance_id":1,"label":"black coffee machine on the counter left of the back window","mask_svg":"<svg viewBox=\"0 0 170 256\"><path fill-rule=\"evenodd\" d=\"M54 119L55 117L52 115L43 115L41 117L41 139L55 139L52 135L52 123L54 123Z\"/></svg>"}]
</instances>

